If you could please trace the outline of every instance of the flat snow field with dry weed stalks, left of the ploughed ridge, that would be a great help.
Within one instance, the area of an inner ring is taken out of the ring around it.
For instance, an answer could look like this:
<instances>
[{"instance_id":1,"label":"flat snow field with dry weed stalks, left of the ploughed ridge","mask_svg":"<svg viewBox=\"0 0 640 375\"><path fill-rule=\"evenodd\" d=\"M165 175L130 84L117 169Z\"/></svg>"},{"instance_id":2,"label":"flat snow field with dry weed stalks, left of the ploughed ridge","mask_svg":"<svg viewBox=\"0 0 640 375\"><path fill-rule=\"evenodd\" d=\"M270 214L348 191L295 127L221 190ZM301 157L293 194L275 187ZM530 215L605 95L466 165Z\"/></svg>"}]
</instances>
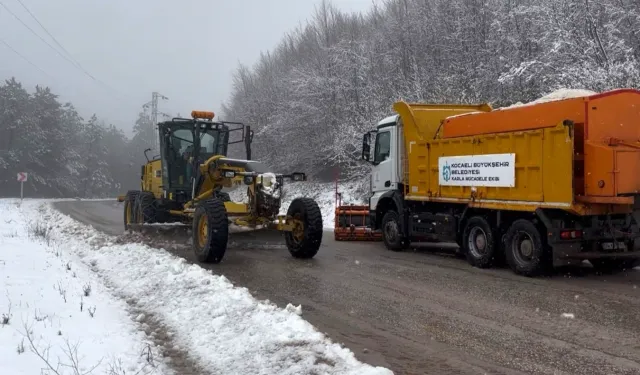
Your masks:
<instances>
[{"instance_id":1,"label":"flat snow field with dry weed stalks, left of the ploughed ridge","mask_svg":"<svg viewBox=\"0 0 640 375\"><path fill-rule=\"evenodd\" d=\"M4 200L0 212L1 373L170 373L127 305L34 220L32 204Z\"/></svg>"}]
</instances>

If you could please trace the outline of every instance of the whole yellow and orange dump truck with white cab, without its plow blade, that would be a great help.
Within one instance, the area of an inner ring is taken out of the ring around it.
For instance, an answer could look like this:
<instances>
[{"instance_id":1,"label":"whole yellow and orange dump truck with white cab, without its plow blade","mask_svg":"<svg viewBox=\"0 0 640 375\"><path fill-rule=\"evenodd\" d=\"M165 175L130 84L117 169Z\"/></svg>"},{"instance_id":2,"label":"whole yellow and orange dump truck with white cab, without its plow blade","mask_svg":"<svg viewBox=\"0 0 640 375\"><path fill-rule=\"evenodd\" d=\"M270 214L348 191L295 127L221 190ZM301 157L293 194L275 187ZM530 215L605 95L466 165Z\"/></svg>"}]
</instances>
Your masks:
<instances>
[{"instance_id":1,"label":"whole yellow and orange dump truck with white cab, without its plow blade","mask_svg":"<svg viewBox=\"0 0 640 375\"><path fill-rule=\"evenodd\" d=\"M398 102L363 139L370 225L387 248L457 242L533 276L640 262L640 91L493 110Z\"/></svg>"}]
</instances>

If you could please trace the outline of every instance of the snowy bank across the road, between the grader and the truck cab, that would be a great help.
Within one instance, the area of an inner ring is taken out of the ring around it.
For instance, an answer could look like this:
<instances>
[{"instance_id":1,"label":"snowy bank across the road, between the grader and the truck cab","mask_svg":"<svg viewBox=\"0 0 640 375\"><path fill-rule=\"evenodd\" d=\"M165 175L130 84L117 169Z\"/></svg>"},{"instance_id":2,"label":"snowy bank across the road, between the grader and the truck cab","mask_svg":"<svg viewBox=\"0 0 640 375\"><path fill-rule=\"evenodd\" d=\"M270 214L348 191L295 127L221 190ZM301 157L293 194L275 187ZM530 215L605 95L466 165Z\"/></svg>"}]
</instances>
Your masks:
<instances>
[{"instance_id":1,"label":"snowy bank across the road, between the grader and the truck cab","mask_svg":"<svg viewBox=\"0 0 640 375\"><path fill-rule=\"evenodd\" d=\"M368 188L368 186L367 186ZM362 182L352 181L338 185L338 191L342 193L342 204L366 205L368 201L365 199L367 192ZM246 202L246 187L241 186L229 193L231 200L236 202ZM317 182L293 182L287 183L283 188L282 203L280 205L280 214L285 215L291 202L295 198L309 197L316 200L320 211L322 211L322 223L326 229L333 229L333 221L335 218L335 183L317 183Z\"/></svg>"}]
</instances>

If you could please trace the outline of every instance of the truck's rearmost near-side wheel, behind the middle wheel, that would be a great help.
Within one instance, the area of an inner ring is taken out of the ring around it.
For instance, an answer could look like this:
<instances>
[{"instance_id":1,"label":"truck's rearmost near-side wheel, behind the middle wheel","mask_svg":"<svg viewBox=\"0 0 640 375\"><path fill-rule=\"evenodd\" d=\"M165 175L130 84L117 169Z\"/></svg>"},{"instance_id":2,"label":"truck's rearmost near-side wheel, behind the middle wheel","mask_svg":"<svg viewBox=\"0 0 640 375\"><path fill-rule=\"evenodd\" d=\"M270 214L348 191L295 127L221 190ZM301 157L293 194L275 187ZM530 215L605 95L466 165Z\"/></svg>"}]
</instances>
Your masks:
<instances>
[{"instance_id":1,"label":"truck's rearmost near-side wheel, behind the middle wheel","mask_svg":"<svg viewBox=\"0 0 640 375\"><path fill-rule=\"evenodd\" d=\"M505 255L513 272L529 277L540 275L551 264L549 254L540 231L529 220L516 220L507 231Z\"/></svg>"}]
</instances>

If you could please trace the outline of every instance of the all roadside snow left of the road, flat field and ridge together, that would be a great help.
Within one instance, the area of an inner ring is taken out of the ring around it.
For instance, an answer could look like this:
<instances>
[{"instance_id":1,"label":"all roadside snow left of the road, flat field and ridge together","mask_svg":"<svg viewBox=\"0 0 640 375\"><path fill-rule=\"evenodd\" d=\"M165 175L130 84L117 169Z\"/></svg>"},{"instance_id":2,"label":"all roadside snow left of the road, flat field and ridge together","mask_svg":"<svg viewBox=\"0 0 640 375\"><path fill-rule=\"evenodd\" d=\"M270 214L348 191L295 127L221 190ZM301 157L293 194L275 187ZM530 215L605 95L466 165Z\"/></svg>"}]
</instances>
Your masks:
<instances>
[{"instance_id":1,"label":"all roadside snow left of the road, flat field and ridge together","mask_svg":"<svg viewBox=\"0 0 640 375\"><path fill-rule=\"evenodd\" d=\"M44 362L31 353L27 339L18 353L22 321L36 316L41 318L31 323L31 337L42 348L51 345L52 363L58 357L69 363L64 340L80 339L77 352L85 369L102 359L94 374L173 373L157 337L143 333L148 327L141 322L151 315L173 349L188 353L206 373L392 374L332 343L300 316L300 307L258 301L224 276L162 249L115 243L44 201L25 200L18 207L14 200L0 200L0 212L0 275L12 303L10 324L0 328L0 373L40 373ZM59 289L66 291L66 302ZM0 315L8 307L4 294ZM114 363L120 372L109 372ZM74 373L62 369L60 374Z\"/></svg>"}]
</instances>

